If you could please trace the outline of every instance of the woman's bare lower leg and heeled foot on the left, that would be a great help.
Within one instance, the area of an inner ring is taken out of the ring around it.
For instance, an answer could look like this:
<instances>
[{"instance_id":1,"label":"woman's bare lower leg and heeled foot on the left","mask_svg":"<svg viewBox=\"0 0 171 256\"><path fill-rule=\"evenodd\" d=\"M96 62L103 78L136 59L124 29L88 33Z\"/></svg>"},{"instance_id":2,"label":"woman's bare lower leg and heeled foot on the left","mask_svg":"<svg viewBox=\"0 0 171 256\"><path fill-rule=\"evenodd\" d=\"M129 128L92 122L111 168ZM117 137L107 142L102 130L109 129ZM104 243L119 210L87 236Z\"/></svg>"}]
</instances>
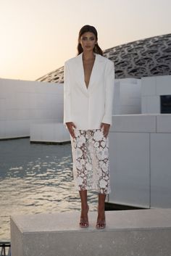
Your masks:
<instances>
[{"instance_id":1,"label":"woman's bare lower leg and heeled foot on the left","mask_svg":"<svg viewBox=\"0 0 171 256\"><path fill-rule=\"evenodd\" d=\"M81 190L81 214L80 214L80 226L83 228L88 227L88 203L87 203L87 190Z\"/></svg>"}]
</instances>

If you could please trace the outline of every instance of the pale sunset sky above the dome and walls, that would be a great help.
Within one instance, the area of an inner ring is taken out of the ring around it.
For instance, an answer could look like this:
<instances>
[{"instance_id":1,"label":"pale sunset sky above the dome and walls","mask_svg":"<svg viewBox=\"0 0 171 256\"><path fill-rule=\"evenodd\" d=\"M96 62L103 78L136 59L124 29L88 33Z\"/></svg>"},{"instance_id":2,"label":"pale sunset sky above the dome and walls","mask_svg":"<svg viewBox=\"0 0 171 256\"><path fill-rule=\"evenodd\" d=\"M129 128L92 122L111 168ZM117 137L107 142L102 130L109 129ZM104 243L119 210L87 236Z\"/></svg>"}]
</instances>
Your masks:
<instances>
[{"instance_id":1,"label":"pale sunset sky above the dome and walls","mask_svg":"<svg viewBox=\"0 0 171 256\"><path fill-rule=\"evenodd\" d=\"M77 55L93 25L102 50L171 33L170 0L0 0L0 78L36 80Z\"/></svg>"}]
</instances>

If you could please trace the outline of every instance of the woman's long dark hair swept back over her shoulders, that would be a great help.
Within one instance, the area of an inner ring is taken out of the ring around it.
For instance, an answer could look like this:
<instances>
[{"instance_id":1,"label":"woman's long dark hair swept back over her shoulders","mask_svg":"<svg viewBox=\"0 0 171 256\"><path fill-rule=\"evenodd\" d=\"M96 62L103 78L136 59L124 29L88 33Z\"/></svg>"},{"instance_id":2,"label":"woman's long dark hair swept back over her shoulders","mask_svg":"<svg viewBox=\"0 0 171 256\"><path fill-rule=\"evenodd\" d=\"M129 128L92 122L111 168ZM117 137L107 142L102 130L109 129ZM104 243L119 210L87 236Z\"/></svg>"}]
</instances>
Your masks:
<instances>
[{"instance_id":1,"label":"woman's long dark hair swept back over her shoulders","mask_svg":"<svg viewBox=\"0 0 171 256\"><path fill-rule=\"evenodd\" d=\"M80 41L80 37L83 35L83 33L86 33L86 32L91 32L93 33L95 36L96 36L96 41L98 40L98 36L97 36L97 30L96 28L94 28L93 26L91 25L84 25L83 28L80 29L80 32L79 32L79 36L78 36L78 55L83 52L83 48L81 46L81 44L79 43ZM103 55L103 51L101 50L101 48L99 47L98 43L95 44L95 46L93 47L93 52L96 52L96 54L101 54Z\"/></svg>"}]
</instances>

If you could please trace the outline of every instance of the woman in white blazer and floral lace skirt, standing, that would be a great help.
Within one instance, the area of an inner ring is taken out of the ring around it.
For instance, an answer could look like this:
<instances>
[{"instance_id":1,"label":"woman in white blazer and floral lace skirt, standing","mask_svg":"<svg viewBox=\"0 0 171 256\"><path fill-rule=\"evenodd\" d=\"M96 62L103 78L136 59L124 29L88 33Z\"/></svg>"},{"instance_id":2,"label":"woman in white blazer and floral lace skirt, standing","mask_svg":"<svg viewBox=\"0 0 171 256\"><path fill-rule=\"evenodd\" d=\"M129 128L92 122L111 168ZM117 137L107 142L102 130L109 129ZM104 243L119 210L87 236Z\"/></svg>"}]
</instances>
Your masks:
<instances>
[{"instance_id":1,"label":"woman in white blazer and floral lace skirt, standing","mask_svg":"<svg viewBox=\"0 0 171 256\"><path fill-rule=\"evenodd\" d=\"M87 190L99 191L96 228L105 228L110 193L109 128L112 125L114 63L103 57L96 28L85 25L78 56L64 62L64 124L70 132L75 188L80 193L80 227L88 227Z\"/></svg>"}]
</instances>

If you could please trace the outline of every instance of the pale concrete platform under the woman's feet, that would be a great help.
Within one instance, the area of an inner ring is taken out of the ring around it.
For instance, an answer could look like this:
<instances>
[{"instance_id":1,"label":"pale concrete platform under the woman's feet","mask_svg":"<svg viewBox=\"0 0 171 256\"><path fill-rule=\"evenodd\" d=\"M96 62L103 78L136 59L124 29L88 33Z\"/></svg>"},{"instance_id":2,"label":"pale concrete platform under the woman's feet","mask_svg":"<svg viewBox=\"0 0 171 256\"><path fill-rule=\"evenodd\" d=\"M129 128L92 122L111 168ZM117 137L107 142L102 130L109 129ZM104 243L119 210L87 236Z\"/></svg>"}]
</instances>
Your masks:
<instances>
[{"instance_id":1,"label":"pale concrete platform under the woman's feet","mask_svg":"<svg viewBox=\"0 0 171 256\"><path fill-rule=\"evenodd\" d=\"M80 228L80 212L11 217L12 256L170 256L171 209L106 212L107 227Z\"/></svg>"}]
</instances>

